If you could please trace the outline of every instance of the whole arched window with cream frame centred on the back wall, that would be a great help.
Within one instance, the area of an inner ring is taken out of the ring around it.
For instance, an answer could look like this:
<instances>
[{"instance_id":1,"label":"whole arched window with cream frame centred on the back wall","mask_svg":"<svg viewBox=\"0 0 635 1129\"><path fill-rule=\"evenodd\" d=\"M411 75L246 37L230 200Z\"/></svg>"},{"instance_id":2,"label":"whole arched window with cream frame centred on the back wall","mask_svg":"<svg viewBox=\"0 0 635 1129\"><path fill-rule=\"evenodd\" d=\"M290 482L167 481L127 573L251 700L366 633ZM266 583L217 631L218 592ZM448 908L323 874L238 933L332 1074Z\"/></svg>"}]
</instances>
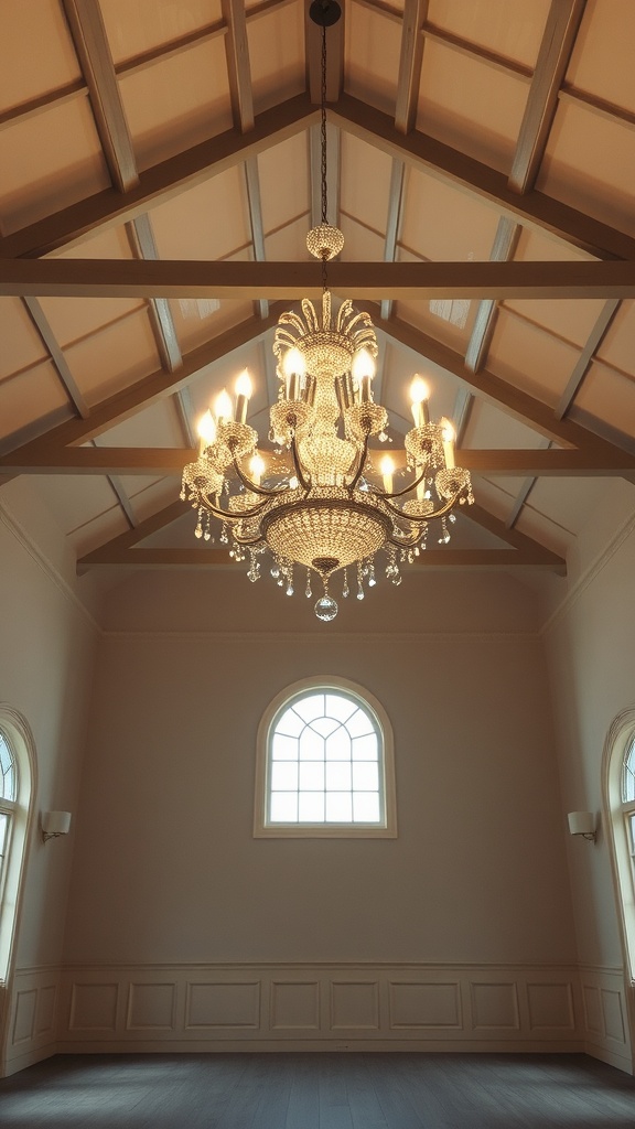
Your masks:
<instances>
[{"instance_id":1,"label":"whole arched window with cream frame centred on the back wall","mask_svg":"<svg viewBox=\"0 0 635 1129\"><path fill-rule=\"evenodd\" d=\"M271 702L258 737L254 834L397 835L392 729L367 690L311 679Z\"/></svg>"}]
</instances>

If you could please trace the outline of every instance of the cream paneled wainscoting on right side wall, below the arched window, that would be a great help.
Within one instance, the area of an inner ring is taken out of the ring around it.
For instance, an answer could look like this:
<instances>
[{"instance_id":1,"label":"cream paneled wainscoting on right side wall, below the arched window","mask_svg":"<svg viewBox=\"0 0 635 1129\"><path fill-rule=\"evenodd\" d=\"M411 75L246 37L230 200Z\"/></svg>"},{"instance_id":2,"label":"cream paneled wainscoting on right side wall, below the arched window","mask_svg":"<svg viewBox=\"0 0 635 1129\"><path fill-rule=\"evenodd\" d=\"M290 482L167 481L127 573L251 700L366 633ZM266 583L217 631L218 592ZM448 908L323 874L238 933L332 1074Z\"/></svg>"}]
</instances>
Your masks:
<instances>
[{"instance_id":1,"label":"cream paneled wainscoting on right side wall, below the arched window","mask_svg":"<svg viewBox=\"0 0 635 1129\"><path fill-rule=\"evenodd\" d=\"M621 969L582 965L580 980L588 1054L633 1073L633 1049L628 1038L627 991Z\"/></svg>"}]
</instances>

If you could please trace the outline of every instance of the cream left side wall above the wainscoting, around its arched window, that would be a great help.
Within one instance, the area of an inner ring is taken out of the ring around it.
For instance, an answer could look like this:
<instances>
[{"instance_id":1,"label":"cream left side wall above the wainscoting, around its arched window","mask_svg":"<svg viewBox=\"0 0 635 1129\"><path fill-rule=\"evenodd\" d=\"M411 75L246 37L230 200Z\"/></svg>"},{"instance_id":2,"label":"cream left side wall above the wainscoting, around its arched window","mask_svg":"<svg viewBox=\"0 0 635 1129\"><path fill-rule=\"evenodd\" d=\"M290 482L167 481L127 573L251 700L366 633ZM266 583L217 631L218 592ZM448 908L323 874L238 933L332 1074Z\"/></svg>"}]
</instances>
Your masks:
<instances>
[{"instance_id":1,"label":"cream left side wall above the wainscoting, around its arched window","mask_svg":"<svg viewBox=\"0 0 635 1129\"><path fill-rule=\"evenodd\" d=\"M0 491L0 701L31 727L38 774L15 959L18 966L58 964L75 828L44 846L38 814L77 816L97 630L73 589L63 541L24 481Z\"/></svg>"}]
</instances>

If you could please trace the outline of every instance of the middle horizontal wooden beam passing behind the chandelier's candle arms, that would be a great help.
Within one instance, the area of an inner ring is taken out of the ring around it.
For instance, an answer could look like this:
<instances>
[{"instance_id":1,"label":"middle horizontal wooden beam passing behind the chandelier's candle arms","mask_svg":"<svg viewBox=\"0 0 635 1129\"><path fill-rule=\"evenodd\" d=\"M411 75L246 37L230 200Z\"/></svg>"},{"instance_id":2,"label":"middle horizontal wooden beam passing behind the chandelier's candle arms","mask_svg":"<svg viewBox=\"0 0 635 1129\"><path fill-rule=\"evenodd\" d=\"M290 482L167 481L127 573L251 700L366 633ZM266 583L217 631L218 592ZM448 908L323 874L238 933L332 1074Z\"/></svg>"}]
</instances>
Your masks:
<instances>
[{"instance_id":1,"label":"middle horizontal wooden beam passing behind the chandelier's candle arms","mask_svg":"<svg viewBox=\"0 0 635 1129\"><path fill-rule=\"evenodd\" d=\"M401 465L405 452L392 450ZM197 452L184 447L19 448L0 457L0 474L157 474L180 475ZM590 478L635 475L635 455L619 448L591 450L494 449L456 450L456 465L477 474L523 478Z\"/></svg>"}]
</instances>

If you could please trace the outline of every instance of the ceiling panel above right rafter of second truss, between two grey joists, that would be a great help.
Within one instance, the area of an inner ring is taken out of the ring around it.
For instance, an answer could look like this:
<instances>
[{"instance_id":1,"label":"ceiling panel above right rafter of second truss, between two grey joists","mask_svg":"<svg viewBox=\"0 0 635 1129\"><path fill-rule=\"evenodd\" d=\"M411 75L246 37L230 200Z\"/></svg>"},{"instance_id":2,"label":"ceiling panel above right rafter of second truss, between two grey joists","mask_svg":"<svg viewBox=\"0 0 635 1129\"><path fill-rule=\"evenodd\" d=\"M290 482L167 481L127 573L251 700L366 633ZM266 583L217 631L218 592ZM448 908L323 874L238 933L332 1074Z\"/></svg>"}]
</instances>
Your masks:
<instances>
[{"instance_id":1,"label":"ceiling panel above right rafter of second truss, between two grey joists","mask_svg":"<svg viewBox=\"0 0 635 1129\"><path fill-rule=\"evenodd\" d=\"M519 303L522 308L522 303ZM504 307L498 310L487 367L546 404L556 405L580 352Z\"/></svg>"}]
</instances>

